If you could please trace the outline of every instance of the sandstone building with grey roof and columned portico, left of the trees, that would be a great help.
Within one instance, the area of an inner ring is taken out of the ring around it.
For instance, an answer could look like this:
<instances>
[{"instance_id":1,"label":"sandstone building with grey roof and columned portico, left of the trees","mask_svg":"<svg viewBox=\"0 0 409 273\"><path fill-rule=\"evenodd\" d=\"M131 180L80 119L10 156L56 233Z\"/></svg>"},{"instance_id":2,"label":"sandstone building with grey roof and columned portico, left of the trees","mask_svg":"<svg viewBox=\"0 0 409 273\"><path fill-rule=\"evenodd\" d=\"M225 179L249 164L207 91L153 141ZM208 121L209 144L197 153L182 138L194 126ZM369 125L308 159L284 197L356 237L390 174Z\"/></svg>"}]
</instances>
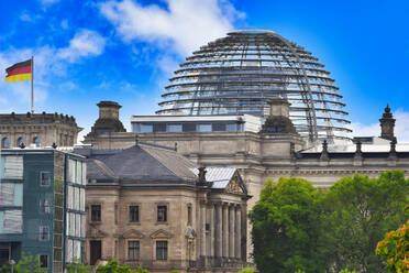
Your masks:
<instances>
[{"instance_id":1,"label":"sandstone building with grey roof and columned portico, left of the trees","mask_svg":"<svg viewBox=\"0 0 409 273\"><path fill-rule=\"evenodd\" d=\"M198 172L175 151L141 143L76 152L88 154L86 249L91 264L118 259L153 273L236 273L246 265L250 196L235 168ZM164 245L166 256L161 256Z\"/></svg>"}]
</instances>

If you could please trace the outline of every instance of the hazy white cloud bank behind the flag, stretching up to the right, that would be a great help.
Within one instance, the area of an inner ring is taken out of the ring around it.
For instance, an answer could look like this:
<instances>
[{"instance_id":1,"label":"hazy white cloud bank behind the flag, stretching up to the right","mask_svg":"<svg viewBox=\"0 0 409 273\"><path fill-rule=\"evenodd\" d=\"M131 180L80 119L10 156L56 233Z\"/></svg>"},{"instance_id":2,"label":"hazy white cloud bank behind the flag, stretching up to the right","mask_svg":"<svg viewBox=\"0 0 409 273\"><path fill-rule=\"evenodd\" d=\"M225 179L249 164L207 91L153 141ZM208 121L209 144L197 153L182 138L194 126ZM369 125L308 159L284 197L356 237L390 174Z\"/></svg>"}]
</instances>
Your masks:
<instances>
[{"instance_id":1,"label":"hazy white cloud bank behind the flag, stretching up to the right","mask_svg":"<svg viewBox=\"0 0 409 273\"><path fill-rule=\"evenodd\" d=\"M37 48L9 48L0 52L0 67L9 67L34 56L34 99L35 106L41 106L47 99L47 90L53 88L52 79L55 76L66 75L69 63L100 55L103 48L104 40L97 32L81 30L74 35L67 47L42 46ZM75 85L73 86L73 83L69 81L62 83L59 86L75 88ZM0 105L8 100L12 101L14 111L30 109L30 81L10 84L0 80L0 90L5 96L1 97ZM1 107L1 110L4 111L4 107Z\"/></svg>"}]
</instances>

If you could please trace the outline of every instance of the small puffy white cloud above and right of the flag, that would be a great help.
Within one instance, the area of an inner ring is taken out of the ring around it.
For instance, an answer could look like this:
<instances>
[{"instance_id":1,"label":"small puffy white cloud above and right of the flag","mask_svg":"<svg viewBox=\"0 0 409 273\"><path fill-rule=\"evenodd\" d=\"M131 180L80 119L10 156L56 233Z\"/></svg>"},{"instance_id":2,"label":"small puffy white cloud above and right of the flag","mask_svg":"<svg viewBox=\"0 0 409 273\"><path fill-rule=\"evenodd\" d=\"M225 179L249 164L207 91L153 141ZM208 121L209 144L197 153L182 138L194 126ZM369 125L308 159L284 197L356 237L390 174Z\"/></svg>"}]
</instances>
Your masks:
<instances>
[{"instance_id":1,"label":"small puffy white cloud above and right of the flag","mask_svg":"<svg viewBox=\"0 0 409 273\"><path fill-rule=\"evenodd\" d=\"M95 31L81 30L69 41L69 46L58 51L58 57L75 63L81 57L97 56L103 52L106 40Z\"/></svg>"}]
</instances>

